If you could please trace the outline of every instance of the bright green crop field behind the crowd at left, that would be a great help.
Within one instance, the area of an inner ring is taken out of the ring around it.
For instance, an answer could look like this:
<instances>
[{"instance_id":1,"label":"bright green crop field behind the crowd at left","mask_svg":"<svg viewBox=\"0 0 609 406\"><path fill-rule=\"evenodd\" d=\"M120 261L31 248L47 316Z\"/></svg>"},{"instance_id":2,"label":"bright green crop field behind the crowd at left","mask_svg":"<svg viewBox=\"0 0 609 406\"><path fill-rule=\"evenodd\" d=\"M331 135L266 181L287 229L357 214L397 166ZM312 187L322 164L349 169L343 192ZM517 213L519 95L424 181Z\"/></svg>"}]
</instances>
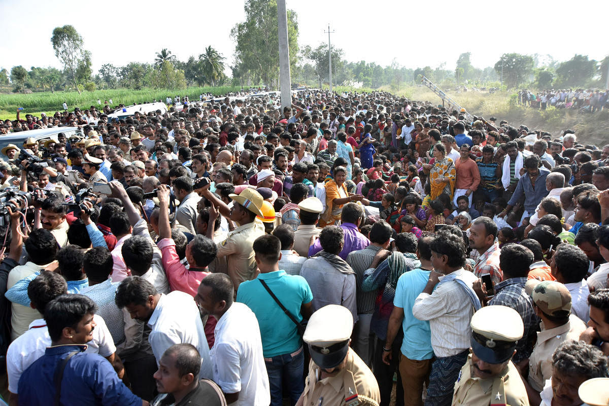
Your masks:
<instances>
[{"instance_id":1,"label":"bright green crop field behind the crowd at left","mask_svg":"<svg viewBox=\"0 0 609 406\"><path fill-rule=\"evenodd\" d=\"M74 107L89 108L91 105L97 106L97 99L112 99L114 105L122 103L132 105L135 103L152 102L153 99L165 101L167 96L180 97L188 96L191 100L199 100L199 94L211 92L214 95L222 96L225 93L238 91L240 86L218 86L218 87L191 87L180 90L163 89L113 89L97 90L93 92L40 92L30 94L0 94L0 119L15 119L17 108L23 107L23 112L39 115L40 113L54 114L55 111L63 110L62 103L68 103L68 110Z\"/></svg>"}]
</instances>

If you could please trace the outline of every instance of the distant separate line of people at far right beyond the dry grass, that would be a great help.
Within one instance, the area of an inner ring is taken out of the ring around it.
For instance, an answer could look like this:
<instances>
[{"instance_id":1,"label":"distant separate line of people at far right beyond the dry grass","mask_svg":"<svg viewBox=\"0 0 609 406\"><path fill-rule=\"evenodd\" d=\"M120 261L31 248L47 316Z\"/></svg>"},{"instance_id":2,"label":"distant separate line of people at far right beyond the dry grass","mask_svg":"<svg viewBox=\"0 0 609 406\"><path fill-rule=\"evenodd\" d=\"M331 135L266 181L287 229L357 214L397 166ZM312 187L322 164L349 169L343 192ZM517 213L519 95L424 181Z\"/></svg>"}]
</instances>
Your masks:
<instances>
[{"instance_id":1,"label":"distant separate line of people at far right beyond the dry grass","mask_svg":"<svg viewBox=\"0 0 609 406\"><path fill-rule=\"evenodd\" d=\"M518 91L518 104L541 108L578 108L581 111L594 113L607 107L609 89L544 89L537 93L530 90Z\"/></svg>"}]
</instances>

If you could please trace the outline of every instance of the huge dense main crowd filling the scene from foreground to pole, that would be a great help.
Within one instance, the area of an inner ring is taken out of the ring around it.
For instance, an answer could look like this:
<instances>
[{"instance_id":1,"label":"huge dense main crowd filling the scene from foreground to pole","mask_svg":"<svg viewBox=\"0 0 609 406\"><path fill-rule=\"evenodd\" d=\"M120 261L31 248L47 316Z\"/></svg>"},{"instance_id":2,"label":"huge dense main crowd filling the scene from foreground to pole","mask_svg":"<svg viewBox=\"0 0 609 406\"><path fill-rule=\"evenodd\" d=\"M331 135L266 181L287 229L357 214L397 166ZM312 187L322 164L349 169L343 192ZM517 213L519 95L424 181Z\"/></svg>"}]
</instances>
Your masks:
<instances>
[{"instance_id":1,"label":"huge dense main crowd filling the scene from foreground to pole","mask_svg":"<svg viewBox=\"0 0 609 406\"><path fill-rule=\"evenodd\" d=\"M291 102L0 125L9 405L607 405L609 145Z\"/></svg>"}]
</instances>

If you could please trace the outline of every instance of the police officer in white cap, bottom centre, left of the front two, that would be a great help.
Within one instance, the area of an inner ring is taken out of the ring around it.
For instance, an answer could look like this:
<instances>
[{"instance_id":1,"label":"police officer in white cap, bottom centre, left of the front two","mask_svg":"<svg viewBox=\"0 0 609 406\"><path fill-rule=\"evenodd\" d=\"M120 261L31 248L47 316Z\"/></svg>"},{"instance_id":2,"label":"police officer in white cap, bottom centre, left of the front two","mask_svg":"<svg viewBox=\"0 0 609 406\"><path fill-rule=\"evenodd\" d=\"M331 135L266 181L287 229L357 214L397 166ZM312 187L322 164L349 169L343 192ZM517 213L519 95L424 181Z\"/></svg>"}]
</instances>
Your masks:
<instances>
[{"instance_id":1,"label":"police officer in white cap, bottom centre, left of the front two","mask_svg":"<svg viewBox=\"0 0 609 406\"><path fill-rule=\"evenodd\" d=\"M297 406L378 406L381 394L375 376L349 347L353 316L329 304L313 313L303 340L311 363Z\"/></svg>"}]
</instances>

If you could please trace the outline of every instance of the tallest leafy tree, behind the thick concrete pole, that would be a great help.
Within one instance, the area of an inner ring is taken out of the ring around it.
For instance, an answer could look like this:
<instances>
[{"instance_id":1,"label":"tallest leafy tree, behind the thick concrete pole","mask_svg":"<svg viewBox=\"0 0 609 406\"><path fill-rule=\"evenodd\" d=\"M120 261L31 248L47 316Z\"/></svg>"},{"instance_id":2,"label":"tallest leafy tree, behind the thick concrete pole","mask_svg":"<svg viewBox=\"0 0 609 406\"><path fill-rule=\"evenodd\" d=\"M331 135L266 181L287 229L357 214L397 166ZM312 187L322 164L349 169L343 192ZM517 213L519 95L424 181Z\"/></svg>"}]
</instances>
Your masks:
<instances>
[{"instance_id":1,"label":"tallest leafy tree, behind the thick concrete pole","mask_svg":"<svg viewBox=\"0 0 609 406\"><path fill-rule=\"evenodd\" d=\"M231 30L231 37L236 41L233 74L238 72L258 77L266 85L278 83L277 2L246 0L244 9L247 19ZM287 10L287 38L290 69L295 69L298 59L298 19L293 10Z\"/></svg>"}]
</instances>

